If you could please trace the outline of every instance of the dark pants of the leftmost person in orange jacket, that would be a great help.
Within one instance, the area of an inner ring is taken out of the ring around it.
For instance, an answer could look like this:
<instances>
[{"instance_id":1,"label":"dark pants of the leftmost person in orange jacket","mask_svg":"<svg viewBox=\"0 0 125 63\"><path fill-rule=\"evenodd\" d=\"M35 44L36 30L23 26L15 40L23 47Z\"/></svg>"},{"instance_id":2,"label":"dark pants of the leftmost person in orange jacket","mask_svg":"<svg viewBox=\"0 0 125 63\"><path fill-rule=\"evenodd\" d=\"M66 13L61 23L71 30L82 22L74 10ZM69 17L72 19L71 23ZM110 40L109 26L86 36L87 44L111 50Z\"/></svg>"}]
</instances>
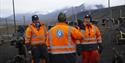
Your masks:
<instances>
[{"instance_id":1,"label":"dark pants of the leftmost person in orange jacket","mask_svg":"<svg viewBox=\"0 0 125 63\"><path fill-rule=\"evenodd\" d=\"M46 59L46 62L48 62L48 51L46 45L33 46L32 56L35 60L35 63L40 63L41 58Z\"/></svg>"}]
</instances>

